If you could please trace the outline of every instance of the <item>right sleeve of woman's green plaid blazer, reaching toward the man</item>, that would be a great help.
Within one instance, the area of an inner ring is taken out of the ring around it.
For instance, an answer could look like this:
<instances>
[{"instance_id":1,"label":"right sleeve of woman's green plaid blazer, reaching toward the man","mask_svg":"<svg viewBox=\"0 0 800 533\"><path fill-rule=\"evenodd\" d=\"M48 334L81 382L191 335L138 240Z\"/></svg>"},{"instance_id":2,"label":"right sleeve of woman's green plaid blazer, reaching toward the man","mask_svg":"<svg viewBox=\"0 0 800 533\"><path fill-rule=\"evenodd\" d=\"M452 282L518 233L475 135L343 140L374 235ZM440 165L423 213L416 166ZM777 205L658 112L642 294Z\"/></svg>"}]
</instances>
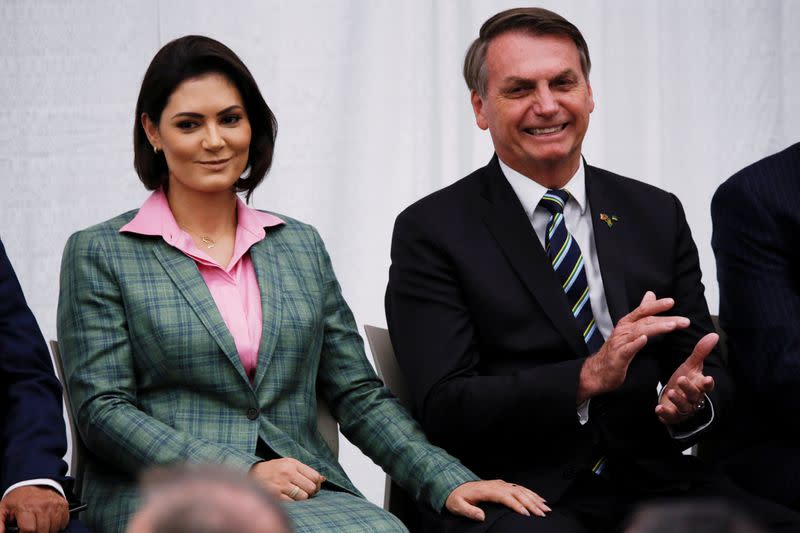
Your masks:
<instances>
[{"instance_id":1,"label":"right sleeve of woman's green plaid blazer, reaching toward the man","mask_svg":"<svg viewBox=\"0 0 800 533\"><path fill-rule=\"evenodd\" d=\"M478 477L428 442L422 429L383 386L314 232L322 276L324 332L318 382L342 434L418 501L440 511L459 485Z\"/></svg>"}]
</instances>

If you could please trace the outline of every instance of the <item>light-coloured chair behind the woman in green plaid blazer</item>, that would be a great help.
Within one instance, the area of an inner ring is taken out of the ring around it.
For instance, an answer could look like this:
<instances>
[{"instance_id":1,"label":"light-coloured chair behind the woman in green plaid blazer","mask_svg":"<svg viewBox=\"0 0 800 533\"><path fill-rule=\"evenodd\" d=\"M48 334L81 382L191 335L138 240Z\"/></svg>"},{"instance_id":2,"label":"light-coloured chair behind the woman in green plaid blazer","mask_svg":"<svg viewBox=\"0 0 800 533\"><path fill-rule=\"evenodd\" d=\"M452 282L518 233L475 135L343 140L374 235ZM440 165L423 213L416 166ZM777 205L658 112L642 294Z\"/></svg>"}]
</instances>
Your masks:
<instances>
[{"instance_id":1,"label":"light-coloured chair behind the woman in green plaid blazer","mask_svg":"<svg viewBox=\"0 0 800 533\"><path fill-rule=\"evenodd\" d=\"M70 473L75 478L75 494L80 495L81 484L83 483L83 473L86 469L86 457L89 451L81 439L78 428L75 425L75 419L72 415L72 403L69 398L69 390L67 389L66 379L64 376L64 363L61 360L61 350L58 347L57 340L50 341L50 350L53 352L53 360L55 361L56 374L61 381L62 389L64 390L64 405L67 410L67 425L69 428L70 440L72 441L72 455L70 457ZM317 398L317 427L322 434L325 443L333 452L335 457L339 457L339 426L333 418L328 405L321 398Z\"/></svg>"}]
</instances>

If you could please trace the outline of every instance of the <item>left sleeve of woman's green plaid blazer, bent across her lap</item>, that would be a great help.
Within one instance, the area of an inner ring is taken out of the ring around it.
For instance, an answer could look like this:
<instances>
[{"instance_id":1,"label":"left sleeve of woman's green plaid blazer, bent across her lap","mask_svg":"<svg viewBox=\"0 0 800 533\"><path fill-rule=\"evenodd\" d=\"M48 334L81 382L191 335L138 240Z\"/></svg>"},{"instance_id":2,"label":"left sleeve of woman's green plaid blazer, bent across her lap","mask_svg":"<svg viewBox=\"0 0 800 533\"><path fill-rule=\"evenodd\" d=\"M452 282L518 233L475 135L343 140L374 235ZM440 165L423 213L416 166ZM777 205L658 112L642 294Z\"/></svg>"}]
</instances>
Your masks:
<instances>
[{"instance_id":1,"label":"left sleeve of woman's green plaid blazer, bent across her lap","mask_svg":"<svg viewBox=\"0 0 800 533\"><path fill-rule=\"evenodd\" d=\"M87 448L131 475L181 461L249 468L260 460L255 455L178 431L137 408L134 354L111 260L113 244L113 238L91 230L78 232L67 242L61 263L58 338Z\"/></svg>"}]
</instances>

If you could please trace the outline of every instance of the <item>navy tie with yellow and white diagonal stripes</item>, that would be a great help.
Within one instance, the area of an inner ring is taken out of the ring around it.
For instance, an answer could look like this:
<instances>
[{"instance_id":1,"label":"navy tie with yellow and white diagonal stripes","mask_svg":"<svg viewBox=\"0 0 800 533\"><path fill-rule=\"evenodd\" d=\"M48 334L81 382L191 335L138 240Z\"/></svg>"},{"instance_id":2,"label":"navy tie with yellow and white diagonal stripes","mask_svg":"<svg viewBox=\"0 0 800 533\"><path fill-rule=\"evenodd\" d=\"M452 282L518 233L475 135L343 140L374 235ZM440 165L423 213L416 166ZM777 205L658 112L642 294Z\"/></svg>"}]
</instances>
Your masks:
<instances>
[{"instance_id":1,"label":"navy tie with yellow and white diagonal stripes","mask_svg":"<svg viewBox=\"0 0 800 533\"><path fill-rule=\"evenodd\" d=\"M603 336L597 330L592 305L589 302L589 284L583 267L583 254L578 243L567 231L564 222L564 205L567 200L569 200L567 191L549 190L539 202L550 212L544 246L550 264L561 282L561 288L567 295L572 316L575 317L583 333L583 341L589 348L589 353L593 354L603 345Z\"/></svg>"}]
</instances>

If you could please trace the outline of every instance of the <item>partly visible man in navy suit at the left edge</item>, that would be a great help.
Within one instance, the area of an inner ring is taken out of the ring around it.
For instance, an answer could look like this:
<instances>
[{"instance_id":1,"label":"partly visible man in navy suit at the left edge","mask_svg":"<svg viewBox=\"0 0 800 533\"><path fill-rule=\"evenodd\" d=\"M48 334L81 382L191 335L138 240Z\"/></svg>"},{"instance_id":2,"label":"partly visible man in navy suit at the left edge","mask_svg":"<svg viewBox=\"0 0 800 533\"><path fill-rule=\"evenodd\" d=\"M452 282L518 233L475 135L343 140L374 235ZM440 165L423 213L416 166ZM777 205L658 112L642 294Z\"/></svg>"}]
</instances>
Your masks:
<instances>
[{"instance_id":1,"label":"partly visible man in navy suit at the left edge","mask_svg":"<svg viewBox=\"0 0 800 533\"><path fill-rule=\"evenodd\" d=\"M0 242L0 533L83 532L69 519L61 385Z\"/></svg>"}]
</instances>

